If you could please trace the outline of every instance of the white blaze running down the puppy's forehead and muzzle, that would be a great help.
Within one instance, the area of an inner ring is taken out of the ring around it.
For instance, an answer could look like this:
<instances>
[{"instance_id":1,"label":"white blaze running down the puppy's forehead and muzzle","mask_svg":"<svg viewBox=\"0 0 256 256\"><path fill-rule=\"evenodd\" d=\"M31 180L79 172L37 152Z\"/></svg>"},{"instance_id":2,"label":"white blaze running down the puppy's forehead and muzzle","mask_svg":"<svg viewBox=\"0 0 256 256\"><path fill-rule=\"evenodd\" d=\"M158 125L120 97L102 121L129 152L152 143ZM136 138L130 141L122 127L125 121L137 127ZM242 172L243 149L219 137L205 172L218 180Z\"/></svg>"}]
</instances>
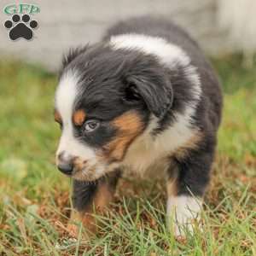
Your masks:
<instances>
[{"instance_id":1,"label":"white blaze running down the puppy's forehead and muzzle","mask_svg":"<svg viewBox=\"0 0 256 256\"><path fill-rule=\"evenodd\" d=\"M61 115L62 134L56 155L61 152L72 157L88 160L95 157L94 151L73 136L73 105L78 96L78 80L75 73L62 76L55 93L55 108Z\"/></svg>"}]
</instances>

